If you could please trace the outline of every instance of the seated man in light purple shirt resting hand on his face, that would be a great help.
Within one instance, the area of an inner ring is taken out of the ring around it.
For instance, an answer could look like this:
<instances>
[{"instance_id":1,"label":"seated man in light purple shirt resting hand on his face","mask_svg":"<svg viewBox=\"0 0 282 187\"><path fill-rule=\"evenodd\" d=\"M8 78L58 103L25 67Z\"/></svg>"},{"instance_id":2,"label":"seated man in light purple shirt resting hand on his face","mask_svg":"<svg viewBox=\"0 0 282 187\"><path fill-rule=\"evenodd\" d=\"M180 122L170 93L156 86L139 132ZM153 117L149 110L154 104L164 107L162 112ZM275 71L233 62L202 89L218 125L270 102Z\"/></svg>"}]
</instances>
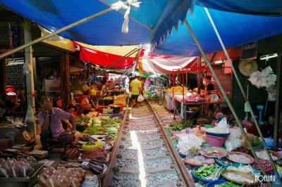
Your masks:
<instances>
[{"instance_id":1,"label":"seated man in light purple shirt resting hand on his face","mask_svg":"<svg viewBox=\"0 0 282 187\"><path fill-rule=\"evenodd\" d=\"M53 108L53 101L49 96L44 96L41 101L42 110L38 114L38 120L42 126L42 132L40 134L42 149L48 150L49 140L52 137L58 138L61 145L75 141L75 116L60 108ZM67 133L63 129L61 120L70 120L73 125L73 131L71 133Z\"/></svg>"}]
</instances>

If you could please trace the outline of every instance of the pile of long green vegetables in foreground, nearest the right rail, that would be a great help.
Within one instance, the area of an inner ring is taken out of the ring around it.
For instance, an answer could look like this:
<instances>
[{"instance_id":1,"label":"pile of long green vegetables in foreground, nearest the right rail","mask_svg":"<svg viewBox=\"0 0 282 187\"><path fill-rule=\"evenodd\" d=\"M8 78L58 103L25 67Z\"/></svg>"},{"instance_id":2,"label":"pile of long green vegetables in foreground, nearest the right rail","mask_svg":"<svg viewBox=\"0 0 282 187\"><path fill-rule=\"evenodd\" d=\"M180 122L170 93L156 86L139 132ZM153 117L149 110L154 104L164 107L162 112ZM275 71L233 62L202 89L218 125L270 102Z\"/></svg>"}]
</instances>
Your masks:
<instances>
[{"instance_id":1,"label":"pile of long green vegetables in foreground, nearest the right rail","mask_svg":"<svg viewBox=\"0 0 282 187\"><path fill-rule=\"evenodd\" d=\"M216 167L215 165L204 165L200 168L193 169L195 175L199 176L202 179L206 180L217 180L221 175L221 172L224 171L223 167Z\"/></svg>"}]
</instances>

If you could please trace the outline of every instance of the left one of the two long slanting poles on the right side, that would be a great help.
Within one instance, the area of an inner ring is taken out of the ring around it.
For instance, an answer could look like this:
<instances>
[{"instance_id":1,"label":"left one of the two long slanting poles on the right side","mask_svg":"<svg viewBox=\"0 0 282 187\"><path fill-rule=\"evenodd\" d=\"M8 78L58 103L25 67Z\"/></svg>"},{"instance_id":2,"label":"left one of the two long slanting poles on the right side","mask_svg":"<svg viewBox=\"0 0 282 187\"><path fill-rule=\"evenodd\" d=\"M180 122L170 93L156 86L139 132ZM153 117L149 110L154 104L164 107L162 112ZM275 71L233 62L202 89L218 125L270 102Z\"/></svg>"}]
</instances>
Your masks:
<instances>
[{"instance_id":1,"label":"left one of the two long slanting poles on the right side","mask_svg":"<svg viewBox=\"0 0 282 187\"><path fill-rule=\"evenodd\" d=\"M216 83L217 83L217 85L219 86L219 89L220 89L221 93L223 94L224 98L226 99L226 103L228 104L228 107L230 108L231 112L233 113L233 115L234 115L234 117L235 117L235 120L236 120L238 126L239 126L240 129L241 129L241 132L242 132L242 134L243 134L243 136L244 136L244 138L245 138L245 141L247 141L247 146L250 147L250 149L251 149L251 151L252 151L252 154L253 154L254 157L255 157L255 160L257 160L257 164L259 165L259 168L263 171L262 173L263 173L264 175L266 175L266 173L264 172L264 169L263 169L261 163L259 162L259 158L258 158L257 155L255 154L255 150L252 148L252 144L250 143L249 139L247 138L247 134L245 133L242 124L240 124L240 120L239 120L239 118L238 118L238 116L237 116L237 114L236 114L236 112L235 112L235 110L234 110L234 108L233 108L233 106L232 106L232 104L231 104L231 101L229 100L228 96L226 95L226 93L225 93L225 91L224 91L224 89L223 89L223 87L222 87L222 85L221 85L221 82L219 82L219 77L217 77L216 73L214 72L214 69L212 68L211 63L209 62L209 59L207 58L207 55L204 53L204 51L203 51L203 49L202 49L202 46L200 45L199 41L197 40L197 37L195 36L194 32L192 31L192 28L190 27L190 25L189 25L189 23L188 23L187 20L185 20L185 25L186 25L186 27L188 28L188 30L189 30L189 32L190 32L192 38L194 39L195 43L197 44L197 46L198 46L200 52L202 53L202 56L204 57L204 60L206 61L207 66L209 67L209 70L212 72L212 75L213 75L214 79L216 80ZM276 170L275 168L276 168L276 167L274 166L274 171L277 172L277 170ZM279 178L279 175L277 175L277 176L278 176L278 178ZM268 182L268 183L269 183L269 182ZM270 183L269 183L269 185L270 185ZM271 186L271 185L270 185L270 186Z\"/></svg>"}]
</instances>

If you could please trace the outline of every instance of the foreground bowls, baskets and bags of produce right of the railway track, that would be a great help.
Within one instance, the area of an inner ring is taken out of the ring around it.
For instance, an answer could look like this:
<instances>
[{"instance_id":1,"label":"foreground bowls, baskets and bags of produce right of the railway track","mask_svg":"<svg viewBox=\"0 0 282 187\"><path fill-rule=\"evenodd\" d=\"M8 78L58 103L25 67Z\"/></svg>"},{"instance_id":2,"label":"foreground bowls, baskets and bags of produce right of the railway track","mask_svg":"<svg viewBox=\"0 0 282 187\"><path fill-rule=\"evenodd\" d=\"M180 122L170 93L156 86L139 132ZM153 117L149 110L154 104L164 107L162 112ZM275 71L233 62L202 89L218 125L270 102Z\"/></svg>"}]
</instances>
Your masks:
<instances>
[{"instance_id":1,"label":"foreground bowls, baskets and bags of produce right of the railway track","mask_svg":"<svg viewBox=\"0 0 282 187\"><path fill-rule=\"evenodd\" d=\"M196 186L268 186L266 181L258 180L262 172L274 180L274 168L259 138L247 133L263 171L235 124L215 122L191 126L189 122L174 122L167 129ZM281 172L282 150L268 149ZM278 179L273 182L277 185Z\"/></svg>"}]
</instances>

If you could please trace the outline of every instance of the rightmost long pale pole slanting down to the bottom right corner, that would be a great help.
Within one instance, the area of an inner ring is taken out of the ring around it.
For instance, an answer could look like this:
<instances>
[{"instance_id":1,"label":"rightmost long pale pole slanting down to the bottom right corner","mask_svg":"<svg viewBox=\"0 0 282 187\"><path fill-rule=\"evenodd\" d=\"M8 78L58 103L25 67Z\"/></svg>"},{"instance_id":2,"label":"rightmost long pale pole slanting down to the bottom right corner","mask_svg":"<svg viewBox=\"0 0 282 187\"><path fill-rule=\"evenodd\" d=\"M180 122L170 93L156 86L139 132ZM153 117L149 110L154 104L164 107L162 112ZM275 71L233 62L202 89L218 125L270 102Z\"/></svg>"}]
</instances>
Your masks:
<instances>
[{"instance_id":1,"label":"rightmost long pale pole slanting down to the bottom right corner","mask_svg":"<svg viewBox=\"0 0 282 187\"><path fill-rule=\"evenodd\" d=\"M266 150L266 153L267 153L267 155L269 156L269 160L270 160L270 162L271 162L271 165L272 165L272 167L274 168L274 173L275 173L276 176L278 177L279 183L282 183L282 182L281 182L281 179L280 179L280 177L279 177L279 175L278 175L278 172L277 172L277 170L275 169L276 166L275 166L275 164L274 164L274 161L272 160L271 154L269 153L269 150L268 150L268 148L267 148L267 146L266 146L266 143L265 143L265 141L264 141L264 136L262 136L262 131L261 131L260 128L259 128L259 124L258 124L258 122L257 122L257 119L255 118L254 111L252 110L252 107L251 107L251 105L250 105L250 102L247 100L247 96L245 95L245 91L244 91L244 89L243 89L243 86L242 86L242 84L241 84L241 82L240 82L240 79L239 79L239 77L238 77L238 75L237 75L237 72L235 71L235 68L234 68L234 66L233 66L233 63L231 62L231 59L229 58L229 55L228 55L228 53L227 53L227 51L226 51L226 47L225 47L224 44L223 44L223 41L222 41L222 39L221 39L221 37L220 37L220 35L219 35L219 32L218 32L218 30L216 29L216 25L214 25L214 21L212 20L212 16L209 14L209 10L208 10L207 8L204 8L204 11L206 11L207 16L208 16L208 18L209 18L209 21L211 22L212 27L214 28L214 32L216 33L216 36L217 36L217 38L219 39L219 42L220 42L220 44L221 44L221 47L222 47L222 49L223 49L223 51L224 51L224 53L225 53L225 55L226 55L226 57L227 57L227 59L228 59L228 62L229 62L229 64L231 65L231 68L232 68L232 70L233 70L233 74L235 75L235 79L236 79L236 81L238 82L238 85L239 85L239 87L240 87L240 90L241 90L241 92L242 92L242 94L243 94L243 97L244 97L246 103L247 103L247 107L250 109L250 113L251 113L251 115L252 115L252 119L253 119L254 122L255 122L255 126L257 127L257 131L258 131L258 133L259 133L259 136L262 138L262 144L264 145L264 150ZM257 156L257 155L256 155L256 156ZM259 161L258 161L258 162L259 162Z\"/></svg>"}]
</instances>

